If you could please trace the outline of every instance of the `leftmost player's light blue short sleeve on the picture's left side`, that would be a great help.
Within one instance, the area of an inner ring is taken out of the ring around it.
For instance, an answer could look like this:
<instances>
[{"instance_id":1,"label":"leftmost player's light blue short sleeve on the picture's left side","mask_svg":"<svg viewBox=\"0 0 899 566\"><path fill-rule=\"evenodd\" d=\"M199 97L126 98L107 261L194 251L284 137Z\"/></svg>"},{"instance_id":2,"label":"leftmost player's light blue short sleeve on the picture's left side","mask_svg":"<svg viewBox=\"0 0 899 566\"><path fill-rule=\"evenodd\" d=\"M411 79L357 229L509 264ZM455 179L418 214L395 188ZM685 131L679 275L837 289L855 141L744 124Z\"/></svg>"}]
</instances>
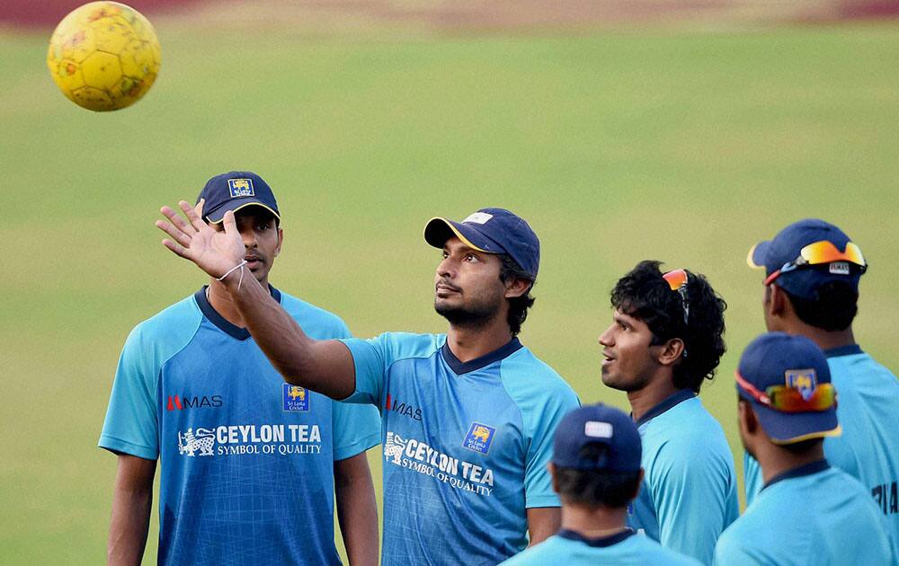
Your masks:
<instances>
[{"instance_id":1,"label":"leftmost player's light blue short sleeve on the picture's left side","mask_svg":"<svg viewBox=\"0 0 899 566\"><path fill-rule=\"evenodd\" d=\"M159 421L156 414L158 368L147 363L140 327L125 342L112 384L99 446L117 454L156 460Z\"/></svg>"}]
</instances>

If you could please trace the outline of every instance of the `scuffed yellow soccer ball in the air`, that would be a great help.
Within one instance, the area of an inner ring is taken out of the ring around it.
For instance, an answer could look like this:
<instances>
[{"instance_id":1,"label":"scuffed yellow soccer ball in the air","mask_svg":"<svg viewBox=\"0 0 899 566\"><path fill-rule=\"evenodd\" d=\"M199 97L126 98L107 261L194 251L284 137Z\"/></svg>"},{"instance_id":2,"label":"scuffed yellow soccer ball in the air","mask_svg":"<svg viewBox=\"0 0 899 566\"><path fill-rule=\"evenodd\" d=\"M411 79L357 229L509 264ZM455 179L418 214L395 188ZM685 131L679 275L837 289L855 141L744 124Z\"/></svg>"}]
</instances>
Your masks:
<instances>
[{"instance_id":1,"label":"scuffed yellow soccer ball in the air","mask_svg":"<svg viewBox=\"0 0 899 566\"><path fill-rule=\"evenodd\" d=\"M156 31L137 10L92 2L69 13L50 38L47 66L78 106L114 111L138 102L159 73Z\"/></svg>"}]
</instances>

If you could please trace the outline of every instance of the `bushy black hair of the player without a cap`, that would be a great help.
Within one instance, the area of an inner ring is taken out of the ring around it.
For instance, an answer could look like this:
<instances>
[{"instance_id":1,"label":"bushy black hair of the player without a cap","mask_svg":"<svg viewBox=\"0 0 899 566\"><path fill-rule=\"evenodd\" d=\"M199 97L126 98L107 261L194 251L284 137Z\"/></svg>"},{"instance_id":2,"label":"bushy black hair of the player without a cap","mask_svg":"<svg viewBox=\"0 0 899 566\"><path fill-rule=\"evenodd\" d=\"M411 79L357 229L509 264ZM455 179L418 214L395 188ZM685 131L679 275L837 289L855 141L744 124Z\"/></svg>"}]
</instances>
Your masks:
<instances>
[{"instance_id":1,"label":"bushy black hair of the player without a cap","mask_svg":"<svg viewBox=\"0 0 899 566\"><path fill-rule=\"evenodd\" d=\"M661 261L640 261L612 289L612 306L640 319L653 332L653 345L672 338L684 343L684 354L673 368L674 386L699 393L705 379L715 376L726 346L725 300L705 276L688 271L687 302L690 315L684 323L683 299L662 279Z\"/></svg>"}]
</instances>

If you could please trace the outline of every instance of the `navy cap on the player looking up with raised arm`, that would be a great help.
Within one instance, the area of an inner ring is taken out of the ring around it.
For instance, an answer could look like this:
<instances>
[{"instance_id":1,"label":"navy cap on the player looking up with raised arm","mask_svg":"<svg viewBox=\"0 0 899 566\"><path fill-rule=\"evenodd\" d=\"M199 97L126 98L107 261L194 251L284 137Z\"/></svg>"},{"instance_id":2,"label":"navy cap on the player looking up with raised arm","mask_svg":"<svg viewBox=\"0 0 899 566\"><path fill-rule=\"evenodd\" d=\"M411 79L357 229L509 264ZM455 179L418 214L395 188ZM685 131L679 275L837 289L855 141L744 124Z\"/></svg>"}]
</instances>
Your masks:
<instances>
[{"instance_id":1,"label":"navy cap on the player looking up with raised arm","mask_svg":"<svg viewBox=\"0 0 899 566\"><path fill-rule=\"evenodd\" d=\"M424 240L442 248L451 237L485 253L507 253L531 278L540 267L540 241L522 217L505 208L481 208L462 222L433 217L424 226Z\"/></svg>"}]
</instances>

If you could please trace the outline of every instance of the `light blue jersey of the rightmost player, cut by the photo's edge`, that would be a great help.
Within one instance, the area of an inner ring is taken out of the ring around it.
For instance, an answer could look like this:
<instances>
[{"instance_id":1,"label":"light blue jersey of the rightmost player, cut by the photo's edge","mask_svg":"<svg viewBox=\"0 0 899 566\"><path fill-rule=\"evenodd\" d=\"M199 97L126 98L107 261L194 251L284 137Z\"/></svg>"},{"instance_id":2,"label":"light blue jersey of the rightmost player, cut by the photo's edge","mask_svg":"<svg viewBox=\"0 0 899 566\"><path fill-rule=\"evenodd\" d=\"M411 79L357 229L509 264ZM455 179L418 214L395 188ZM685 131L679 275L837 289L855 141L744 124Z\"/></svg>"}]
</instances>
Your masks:
<instances>
[{"instance_id":1,"label":"light blue jersey of the rightmost player, cut by the photo's edge","mask_svg":"<svg viewBox=\"0 0 899 566\"><path fill-rule=\"evenodd\" d=\"M868 488L899 544L899 380L859 346L824 352L837 390L842 435L824 438L827 461ZM761 468L743 456L746 504L761 491Z\"/></svg>"}]
</instances>

